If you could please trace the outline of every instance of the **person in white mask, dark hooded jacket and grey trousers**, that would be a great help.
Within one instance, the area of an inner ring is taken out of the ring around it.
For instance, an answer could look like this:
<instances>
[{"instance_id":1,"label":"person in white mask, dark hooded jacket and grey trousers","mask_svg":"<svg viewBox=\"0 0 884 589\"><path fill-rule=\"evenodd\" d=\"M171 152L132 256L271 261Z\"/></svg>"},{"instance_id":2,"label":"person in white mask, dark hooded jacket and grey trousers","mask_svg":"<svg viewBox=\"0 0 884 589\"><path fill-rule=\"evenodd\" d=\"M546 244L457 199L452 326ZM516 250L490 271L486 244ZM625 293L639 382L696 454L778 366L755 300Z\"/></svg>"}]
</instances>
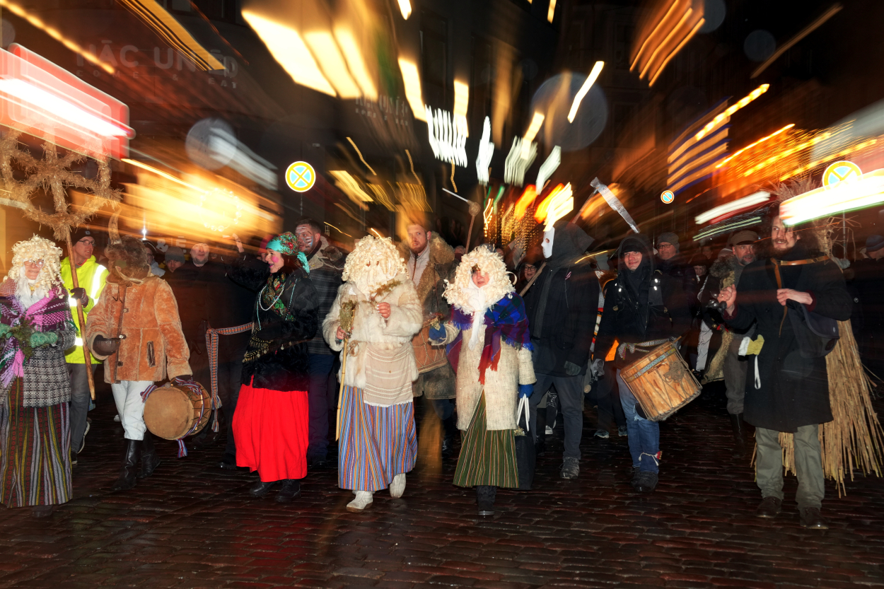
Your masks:
<instances>
[{"instance_id":1,"label":"person in white mask, dark hooded jacket and grey trousers","mask_svg":"<svg viewBox=\"0 0 884 589\"><path fill-rule=\"evenodd\" d=\"M530 431L539 445L545 428L537 427L537 405L554 385L565 425L561 478L580 474L583 375L598 314L598 279L591 259L584 255L592 241L580 227L558 220L544 232L545 266L525 294L537 374L537 394L530 398Z\"/></svg>"}]
</instances>

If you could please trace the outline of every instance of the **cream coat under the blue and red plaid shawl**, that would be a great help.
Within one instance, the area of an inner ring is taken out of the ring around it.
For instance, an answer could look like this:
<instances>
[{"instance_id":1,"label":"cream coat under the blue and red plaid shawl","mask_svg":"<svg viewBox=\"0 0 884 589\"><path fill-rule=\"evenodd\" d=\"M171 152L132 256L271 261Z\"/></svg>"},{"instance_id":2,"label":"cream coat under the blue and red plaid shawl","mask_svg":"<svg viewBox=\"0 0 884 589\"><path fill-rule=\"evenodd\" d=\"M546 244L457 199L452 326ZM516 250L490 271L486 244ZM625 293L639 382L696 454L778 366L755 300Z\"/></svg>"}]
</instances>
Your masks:
<instances>
[{"instance_id":1,"label":"cream coat under the blue and red plaid shawl","mask_svg":"<svg viewBox=\"0 0 884 589\"><path fill-rule=\"evenodd\" d=\"M485 325L480 323L478 340L469 348L473 328L463 330L460 365L457 368L457 428L466 430L473 419L473 413L482 396L483 385L479 382L479 360L485 340ZM446 340L451 343L460 329L451 323L445 324ZM485 371L485 418L488 430L514 430L515 409L519 406L519 385L537 382L531 352L528 348L516 349L505 341L500 342L498 369Z\"/></svg>"}]
</instances>

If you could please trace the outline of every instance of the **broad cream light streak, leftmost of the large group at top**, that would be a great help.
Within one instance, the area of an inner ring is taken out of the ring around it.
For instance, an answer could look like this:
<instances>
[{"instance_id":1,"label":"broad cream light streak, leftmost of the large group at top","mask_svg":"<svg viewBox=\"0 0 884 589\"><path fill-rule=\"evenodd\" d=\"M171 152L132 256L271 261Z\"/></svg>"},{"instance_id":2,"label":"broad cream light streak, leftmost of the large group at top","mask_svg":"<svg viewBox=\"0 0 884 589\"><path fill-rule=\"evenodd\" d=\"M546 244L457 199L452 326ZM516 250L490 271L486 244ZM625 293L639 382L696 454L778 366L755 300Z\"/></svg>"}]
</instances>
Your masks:
<instances>
[{"instance_id":1,"label":"broad cream light streak, leftmost of the large group at top","mask_svg":"<svg viewBox=\"0 0 884 589\"><path fill-rule=\"evenodd\" d=\"M255 34L267 45L273 58L282 65L295 83L329 96L337 96L338 93L319 70L316 60L298 31L266 19L253 11L243 10L242 18L246 19L248 26L252 27Z\"/></svg>"}]
</instances>

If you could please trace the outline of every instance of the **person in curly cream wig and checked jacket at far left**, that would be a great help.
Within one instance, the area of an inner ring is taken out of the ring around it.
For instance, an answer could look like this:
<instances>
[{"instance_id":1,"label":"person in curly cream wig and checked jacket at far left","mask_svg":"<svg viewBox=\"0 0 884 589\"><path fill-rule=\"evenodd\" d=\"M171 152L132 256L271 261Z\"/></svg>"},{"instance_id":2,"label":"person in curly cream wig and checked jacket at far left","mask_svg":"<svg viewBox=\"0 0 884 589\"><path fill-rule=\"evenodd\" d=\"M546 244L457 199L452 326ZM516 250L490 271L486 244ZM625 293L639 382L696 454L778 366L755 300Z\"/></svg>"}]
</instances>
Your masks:
<instances>
[{"instance_id":1,"label":"person in curly cream wig and checked jacket at far left","mask_svg":"<svg viewBox=\"0 0 884 589\"><path fill-rule=\"evenodd\" d=\"M60 256L42 237L19 241L0 286L0 501L37 517L71 499L65 349L77 332Z\"/></svg>"}]
</instances>

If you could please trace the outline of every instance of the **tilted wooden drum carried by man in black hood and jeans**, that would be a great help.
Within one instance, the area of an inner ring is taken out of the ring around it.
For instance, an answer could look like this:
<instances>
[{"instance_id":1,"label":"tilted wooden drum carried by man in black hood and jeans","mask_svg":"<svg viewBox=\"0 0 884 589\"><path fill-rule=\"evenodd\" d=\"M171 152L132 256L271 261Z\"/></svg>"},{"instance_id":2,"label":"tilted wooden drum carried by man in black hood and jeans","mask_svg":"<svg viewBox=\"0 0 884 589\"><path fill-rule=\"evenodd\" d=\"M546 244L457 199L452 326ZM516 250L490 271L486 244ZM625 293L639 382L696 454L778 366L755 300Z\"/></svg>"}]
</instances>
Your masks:
<instances>
[{"instance_id":1,"label":"tilted wooden drum carried by man in black hood and jeans","mask_svg":"<svg viewBox=\"0 0 884 589\"><path fill-rule=\"evenodd\" d=\"M700 383L672 341L629 364L620 376L651 421L663 421L700 394Z\"/></svg>"}]
</instances>

